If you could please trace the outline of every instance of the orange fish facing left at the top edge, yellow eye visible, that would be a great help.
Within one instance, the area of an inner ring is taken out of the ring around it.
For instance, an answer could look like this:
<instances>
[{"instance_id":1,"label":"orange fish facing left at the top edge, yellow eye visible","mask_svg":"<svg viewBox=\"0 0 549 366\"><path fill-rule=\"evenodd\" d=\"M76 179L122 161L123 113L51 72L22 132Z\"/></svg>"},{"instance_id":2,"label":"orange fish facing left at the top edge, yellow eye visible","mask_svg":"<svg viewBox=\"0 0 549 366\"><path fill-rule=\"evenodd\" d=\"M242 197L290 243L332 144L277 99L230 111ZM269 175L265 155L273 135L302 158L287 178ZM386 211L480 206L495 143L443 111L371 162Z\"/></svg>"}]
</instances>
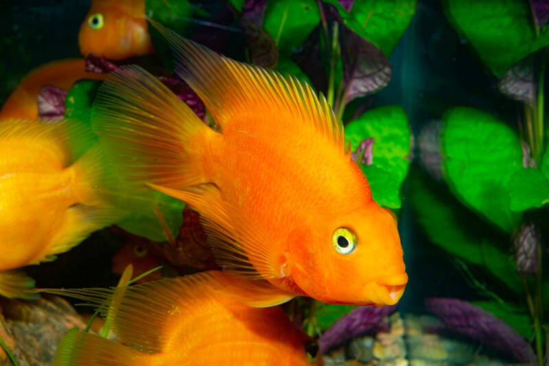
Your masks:
<instances>
[{"instance_id":1,"label":"orange fish facing left at the top edge, yellow eye visible","mask_svg":"<svg viewBox=\"0 0 549 366\"><path fill-rule=\"evenodd\" d=\"M111 60L153 52L145 0L92 0L78 34L80 53L95 53Z\"/></svg>"}]
</instances>

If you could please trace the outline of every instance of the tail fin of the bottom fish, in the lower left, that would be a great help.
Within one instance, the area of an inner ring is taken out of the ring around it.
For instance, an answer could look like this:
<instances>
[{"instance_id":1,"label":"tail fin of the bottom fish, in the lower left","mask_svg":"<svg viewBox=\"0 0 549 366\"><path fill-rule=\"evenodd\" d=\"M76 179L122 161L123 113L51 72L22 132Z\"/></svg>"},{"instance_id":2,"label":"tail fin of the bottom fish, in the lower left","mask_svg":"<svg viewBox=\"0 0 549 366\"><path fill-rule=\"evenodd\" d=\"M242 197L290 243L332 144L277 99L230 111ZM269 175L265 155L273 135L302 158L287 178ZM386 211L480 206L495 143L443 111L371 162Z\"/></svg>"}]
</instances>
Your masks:
<instances>
[{"instance_id":1,"label":"tail fin of the bottom fish, in the lower left","mask_svg":"<svg viewBox=\"0 0 549 366\"><path fill-rule=\"evenodd\" d=\"M74 328L61 339L53 365L147 365L147 357L147 354L115 341Z\"/></svg>"}]
</instances>

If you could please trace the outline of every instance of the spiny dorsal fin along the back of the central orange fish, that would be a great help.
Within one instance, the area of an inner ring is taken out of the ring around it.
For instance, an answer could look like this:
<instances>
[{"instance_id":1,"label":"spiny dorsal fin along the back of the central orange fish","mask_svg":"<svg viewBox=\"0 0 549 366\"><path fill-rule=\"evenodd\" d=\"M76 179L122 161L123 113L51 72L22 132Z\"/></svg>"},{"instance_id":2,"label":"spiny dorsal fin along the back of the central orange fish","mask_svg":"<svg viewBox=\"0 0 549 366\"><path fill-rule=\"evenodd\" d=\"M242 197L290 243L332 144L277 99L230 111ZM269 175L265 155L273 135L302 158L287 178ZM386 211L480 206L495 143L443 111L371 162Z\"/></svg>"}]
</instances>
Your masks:
<instances>
[{"instance_id":1,"label":"spiny dorsal fin along the back of the central orange fish","mask_svg":"<svg viewBox=\"0 0 549 366\"><path fill-rule=\"evenodd\" d=\"M317 97L307 83L225 58L149 21L170 43L176 73L204 101L222 130L231 118L261 114L273 123L285 120L309 125L344 151L342 124L325 97Z\"/></svg>"}]
</instances>

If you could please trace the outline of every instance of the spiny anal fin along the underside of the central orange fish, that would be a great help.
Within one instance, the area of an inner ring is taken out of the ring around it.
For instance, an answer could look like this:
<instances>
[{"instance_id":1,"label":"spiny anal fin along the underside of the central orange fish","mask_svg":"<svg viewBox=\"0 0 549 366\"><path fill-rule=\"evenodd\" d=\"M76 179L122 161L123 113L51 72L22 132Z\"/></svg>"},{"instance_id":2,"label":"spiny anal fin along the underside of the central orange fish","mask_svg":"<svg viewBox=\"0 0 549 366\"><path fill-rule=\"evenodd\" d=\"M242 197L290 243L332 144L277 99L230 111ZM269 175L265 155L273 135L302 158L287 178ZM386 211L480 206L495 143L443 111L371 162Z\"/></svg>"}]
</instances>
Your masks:
<instances>
[{"instance_id":1,"label":"spiny anal fin along the underside of the central orange fish","mask_svg":"<svg viewBox=\"0 0 549 366\"><path fill-rule=\"evenodd\" d=\"M224 271L244 276L249 280L281 278L276 263L277 245L270 243L259 230L240 223L248 222L242 213L224 202L219 189L213 184L194 186L178 191L163 186L152 188L181 199L200 212L211 250Z\"/></svg>"}]
</instances>

